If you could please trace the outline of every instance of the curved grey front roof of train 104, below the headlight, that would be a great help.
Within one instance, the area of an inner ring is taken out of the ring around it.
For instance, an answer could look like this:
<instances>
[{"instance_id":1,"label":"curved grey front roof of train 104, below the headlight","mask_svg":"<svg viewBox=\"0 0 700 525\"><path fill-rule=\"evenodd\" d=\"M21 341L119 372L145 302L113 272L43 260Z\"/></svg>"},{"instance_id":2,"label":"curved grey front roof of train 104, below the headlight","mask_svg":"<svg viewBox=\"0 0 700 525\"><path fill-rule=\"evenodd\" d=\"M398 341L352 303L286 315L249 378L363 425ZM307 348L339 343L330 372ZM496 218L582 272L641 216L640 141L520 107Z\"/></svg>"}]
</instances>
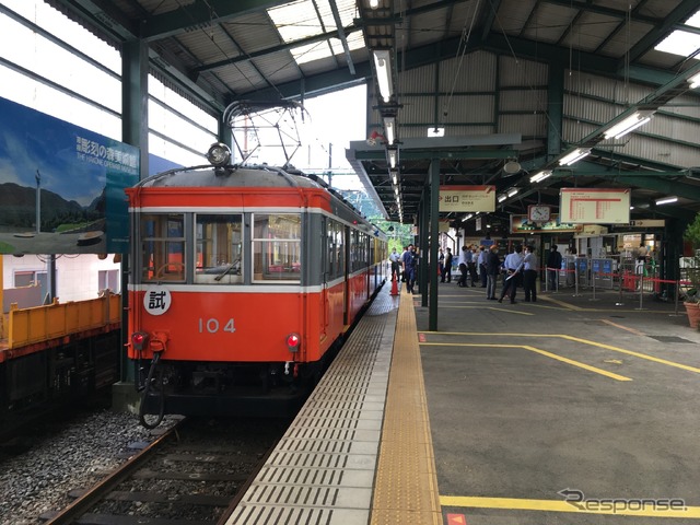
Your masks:
<instances>
[{"instance_id":1,"label":"curved grey front roof of train 104, below the headlight","mask_svg":"<svg viewBox=\"0 0 700 525\"><path fill-rule=\"evenodd\" d=\"M317 188L328 189L301 173L268 165L222 166L211 165L178 167L144 178L137 184L141 188L197 187L197 188Z\"/></svg>"}]
</instances>

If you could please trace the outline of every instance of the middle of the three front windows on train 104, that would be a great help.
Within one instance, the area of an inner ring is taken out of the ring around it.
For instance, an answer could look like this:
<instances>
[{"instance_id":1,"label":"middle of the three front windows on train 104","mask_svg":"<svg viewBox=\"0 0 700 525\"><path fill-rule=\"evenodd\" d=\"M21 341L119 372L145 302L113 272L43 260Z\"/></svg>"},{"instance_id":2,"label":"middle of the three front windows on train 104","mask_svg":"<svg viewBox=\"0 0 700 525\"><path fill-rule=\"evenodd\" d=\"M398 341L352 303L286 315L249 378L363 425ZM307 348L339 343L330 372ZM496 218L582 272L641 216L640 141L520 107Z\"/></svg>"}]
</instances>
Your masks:
<instances>
[{"instance_id":1,"label":"middle of the three front windows on train 104","mask_svg":"<svg viewBox=\"0 0 700 525\"><path fill-rule=\"evenodd\" d=\"M243 283L243 217L198 214L195 282Z\"/></svg>"}]
</instances>

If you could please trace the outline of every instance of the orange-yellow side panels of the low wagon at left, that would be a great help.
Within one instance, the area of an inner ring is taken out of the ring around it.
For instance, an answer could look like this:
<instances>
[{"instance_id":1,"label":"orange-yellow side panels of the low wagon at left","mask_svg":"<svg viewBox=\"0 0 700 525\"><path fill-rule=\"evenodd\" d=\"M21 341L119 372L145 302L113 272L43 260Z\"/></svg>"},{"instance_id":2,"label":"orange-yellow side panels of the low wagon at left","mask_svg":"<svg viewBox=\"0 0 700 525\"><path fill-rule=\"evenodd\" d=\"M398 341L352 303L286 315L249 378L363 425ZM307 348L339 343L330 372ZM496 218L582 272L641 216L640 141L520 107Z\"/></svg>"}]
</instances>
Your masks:
<instances>
[{"instance_id":1,"label":"orange-yellow side panels of the low wagon at left","mask_svg":"<svg viewBox=\"0 0 700 525\"><path fill-rule=\"evenodd\" d=\"M2 349L16 349L119 323L119 294L68 303L55 300L52 304L31 308L19 308L13 303L0 320L0 343Z\"/></svg>"}]
</instances>

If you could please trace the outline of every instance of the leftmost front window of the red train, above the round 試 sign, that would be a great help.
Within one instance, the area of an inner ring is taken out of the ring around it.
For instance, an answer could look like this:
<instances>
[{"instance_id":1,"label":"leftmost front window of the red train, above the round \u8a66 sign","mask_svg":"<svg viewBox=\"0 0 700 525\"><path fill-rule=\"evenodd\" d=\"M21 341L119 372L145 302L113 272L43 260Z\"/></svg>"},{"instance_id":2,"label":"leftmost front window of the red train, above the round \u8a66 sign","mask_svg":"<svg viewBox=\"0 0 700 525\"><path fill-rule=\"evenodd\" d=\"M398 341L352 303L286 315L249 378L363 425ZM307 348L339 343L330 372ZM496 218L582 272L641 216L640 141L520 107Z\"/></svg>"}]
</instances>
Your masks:
<instances>
[{"instance_id":1,"label":"leftmost front window of the red train, above the round \u8a66 sign","mask_svg":"<svg viewBox=\"0 0 700 525\"><path fill-rule=\"evenodd\" d=\"M182 213L141 214L142 281L185 280L185 218Z\"/></svg>"}]
</instances>

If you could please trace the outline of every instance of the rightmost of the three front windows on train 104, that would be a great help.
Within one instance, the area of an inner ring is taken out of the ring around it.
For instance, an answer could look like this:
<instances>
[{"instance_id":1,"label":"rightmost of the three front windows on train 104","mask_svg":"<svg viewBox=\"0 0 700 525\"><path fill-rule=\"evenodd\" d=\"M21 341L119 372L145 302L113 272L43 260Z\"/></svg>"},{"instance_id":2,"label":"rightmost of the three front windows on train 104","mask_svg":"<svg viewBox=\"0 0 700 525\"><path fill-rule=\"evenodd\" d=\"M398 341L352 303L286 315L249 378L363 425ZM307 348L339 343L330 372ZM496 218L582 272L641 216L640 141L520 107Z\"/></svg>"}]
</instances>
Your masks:
<instances>
[{"instance_id":1,"label":"rightmost of the three front windows on train 104","mask_svg":"<svg viewBox=\"0 0 700 525\"><path fill-rule=\"evenodd\" d=\"M302 218L300 213L255 213L253 280L301 280Z\"/></svg>"}]
</instances>

